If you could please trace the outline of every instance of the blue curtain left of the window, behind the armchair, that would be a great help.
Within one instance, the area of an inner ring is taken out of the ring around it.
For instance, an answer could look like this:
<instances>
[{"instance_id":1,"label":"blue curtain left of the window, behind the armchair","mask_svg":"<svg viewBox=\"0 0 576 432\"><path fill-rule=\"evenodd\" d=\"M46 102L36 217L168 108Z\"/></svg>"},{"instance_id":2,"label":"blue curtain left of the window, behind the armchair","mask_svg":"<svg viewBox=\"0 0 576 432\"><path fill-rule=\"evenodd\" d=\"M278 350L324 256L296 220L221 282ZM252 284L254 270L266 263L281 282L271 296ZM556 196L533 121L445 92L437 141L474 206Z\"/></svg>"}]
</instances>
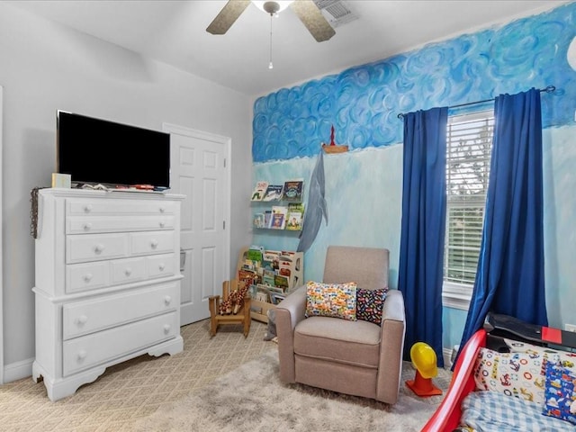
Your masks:
<instances>
[{"instance_id":1,"label":"blue curtain left of the window, behind the armchair","mask_svg":"<svg viewBox=\"0 0 576 432\"><path fill-rule=\"evenodd\" d=\"M446 230L446 122L448 109L404 115L401 249L398 287L404 294L410 348L426 342L442 356L442 267Z\"/></svg>"}]
</instances>

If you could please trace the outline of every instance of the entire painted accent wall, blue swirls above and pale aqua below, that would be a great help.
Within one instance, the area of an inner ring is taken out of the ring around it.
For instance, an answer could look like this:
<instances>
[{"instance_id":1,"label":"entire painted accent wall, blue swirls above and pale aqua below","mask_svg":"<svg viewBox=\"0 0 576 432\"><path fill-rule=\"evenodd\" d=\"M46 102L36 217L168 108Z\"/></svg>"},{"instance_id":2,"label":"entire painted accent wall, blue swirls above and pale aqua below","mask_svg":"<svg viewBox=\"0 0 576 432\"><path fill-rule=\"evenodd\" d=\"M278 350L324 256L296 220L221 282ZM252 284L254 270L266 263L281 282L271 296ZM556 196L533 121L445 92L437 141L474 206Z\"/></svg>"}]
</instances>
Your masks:
<instances>
[{"instance_id":1,"label":"entire painted accent wall, blue swirls above and pale aqua below","mask_svg":"<svg viewBox=\"0 0 576 432\"><path fill-rule=\"evenodd\" d=\"M290 178L308 182L332 125L336 142L350 148L348 153L324 157L330 219L322 222L306 252L304 277L321 280L330 244L387 247L390 284L397 287L402 184L399 113L554 85L554 94L542 95L546 305L552 326L574 323L575 38L573 2L258 98L252 145L255 184ZM262 203L253 204L253 211L262 209ZM255 229L253 243L275 249L298 246L297 233L270 231ZM445 347L460 341L464 320L465 311L445 308Z\"/></svg>"}]
</instances>

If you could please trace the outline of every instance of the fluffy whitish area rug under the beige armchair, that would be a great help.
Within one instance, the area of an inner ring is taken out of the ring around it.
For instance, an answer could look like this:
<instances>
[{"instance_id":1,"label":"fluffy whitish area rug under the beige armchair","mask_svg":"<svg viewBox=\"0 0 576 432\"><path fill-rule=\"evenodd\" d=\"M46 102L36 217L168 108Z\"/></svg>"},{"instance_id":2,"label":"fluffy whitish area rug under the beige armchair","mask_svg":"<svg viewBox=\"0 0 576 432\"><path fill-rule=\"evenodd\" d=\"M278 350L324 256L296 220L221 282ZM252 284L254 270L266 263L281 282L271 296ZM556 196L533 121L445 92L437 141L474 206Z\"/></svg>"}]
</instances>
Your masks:
<instances>
[{"instance_id":1,"label":"fluffy whitish area rug under the beige armchair","mask_svg":"<svg viewBox=\"0 0 576 432\"><path fill-rule=\"evenodd\" d=\"M139 419L134 431L419 431L443 396L419 398L406 386L414 369L404 362L399 401L382 402L328 392L278 379L278 353L272 350L197 392ZM451 373L433 383L446 391Z\"/></svg>"}]
</instances>

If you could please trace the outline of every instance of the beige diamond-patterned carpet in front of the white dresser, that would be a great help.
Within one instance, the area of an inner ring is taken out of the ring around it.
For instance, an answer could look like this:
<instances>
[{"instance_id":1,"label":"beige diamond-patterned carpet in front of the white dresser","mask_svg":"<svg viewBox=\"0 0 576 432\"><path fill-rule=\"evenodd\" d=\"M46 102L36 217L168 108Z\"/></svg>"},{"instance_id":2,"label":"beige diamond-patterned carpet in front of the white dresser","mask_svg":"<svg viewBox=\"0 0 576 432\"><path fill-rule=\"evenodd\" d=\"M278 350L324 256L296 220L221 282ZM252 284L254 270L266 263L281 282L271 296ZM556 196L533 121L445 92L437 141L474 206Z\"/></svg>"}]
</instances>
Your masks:
<instances>
[{"instance_id":1,"label":"beige diamond-patterned carpet in front of the white dresser","mask_svg":"<svg viewBox=\"0 0 576 432\"><path fill-rule=\"evenodd\" d=\"M209 328L210 320L184 326L182 353L112 366L60 401L50 401L44 383L31 377L0 385L0 432L121 432L276 347L257 321L247 338L240 326L222 327L213 338Z\"/></svg>"}]
</instances>

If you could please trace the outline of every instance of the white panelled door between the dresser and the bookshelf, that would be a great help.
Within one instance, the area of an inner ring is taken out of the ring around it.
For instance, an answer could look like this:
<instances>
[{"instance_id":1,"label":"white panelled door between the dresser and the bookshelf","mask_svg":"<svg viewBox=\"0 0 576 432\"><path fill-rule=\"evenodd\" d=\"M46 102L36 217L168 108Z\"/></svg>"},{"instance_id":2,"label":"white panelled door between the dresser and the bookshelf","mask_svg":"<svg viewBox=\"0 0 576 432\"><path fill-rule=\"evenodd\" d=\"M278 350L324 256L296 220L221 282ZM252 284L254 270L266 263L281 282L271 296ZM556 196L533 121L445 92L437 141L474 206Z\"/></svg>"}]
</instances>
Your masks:
<instances>
[{"instance_id":1,"label":"white panelled door between the dresser and the bookshelf","mask_svg":"<svg viewBox=\"0 0 576 432\"><path fill-rule=\"evenodd\" d=\"M170 192L182 193L180 325L210 317L229 269L229 138L172 124Z\"/></svg>"}]
</instances>

